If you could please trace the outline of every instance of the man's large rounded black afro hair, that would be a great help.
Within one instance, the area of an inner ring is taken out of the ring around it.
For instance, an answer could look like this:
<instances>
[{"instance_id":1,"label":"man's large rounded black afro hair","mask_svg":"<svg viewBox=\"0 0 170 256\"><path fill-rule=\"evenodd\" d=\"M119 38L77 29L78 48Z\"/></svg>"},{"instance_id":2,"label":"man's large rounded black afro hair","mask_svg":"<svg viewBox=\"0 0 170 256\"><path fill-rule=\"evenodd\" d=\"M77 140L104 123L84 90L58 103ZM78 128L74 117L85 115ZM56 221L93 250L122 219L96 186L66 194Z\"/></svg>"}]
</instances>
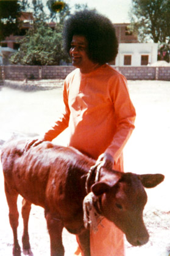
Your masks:
<instances>
[{"instance_id":1,"label":"man's large rounded black afro hair","mask_svg":"<svg viewBox=\"0 0 170 256\"><path fill-rule=\"evenodd\" d=\"M115 60L118 54L115 28L108 18L96 10L76 12L65 21L63 40L68 54L73 35L83 35L87 39L87 55L94 63L104 64Z\"/></svg>"}]
</instances>

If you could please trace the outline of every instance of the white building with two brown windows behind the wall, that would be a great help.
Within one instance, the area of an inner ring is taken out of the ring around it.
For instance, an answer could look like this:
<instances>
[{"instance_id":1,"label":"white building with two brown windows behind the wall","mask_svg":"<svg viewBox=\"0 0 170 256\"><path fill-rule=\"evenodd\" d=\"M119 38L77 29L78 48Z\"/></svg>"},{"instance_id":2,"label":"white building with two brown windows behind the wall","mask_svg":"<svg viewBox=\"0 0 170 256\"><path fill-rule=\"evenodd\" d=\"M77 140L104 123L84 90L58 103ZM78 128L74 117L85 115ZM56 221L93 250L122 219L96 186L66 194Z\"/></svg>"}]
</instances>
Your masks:
<instances>
[{"instance_id":1,"label":"white building with two brown windows behind the wall","mask_svg":"<svg viewBox=\"0 0 170 256\"><path fill-rule=\"evenodd\" d=\"M157 43L119 43L115 66L147 66L157 62Z\"/></svg>"}]
</instances>

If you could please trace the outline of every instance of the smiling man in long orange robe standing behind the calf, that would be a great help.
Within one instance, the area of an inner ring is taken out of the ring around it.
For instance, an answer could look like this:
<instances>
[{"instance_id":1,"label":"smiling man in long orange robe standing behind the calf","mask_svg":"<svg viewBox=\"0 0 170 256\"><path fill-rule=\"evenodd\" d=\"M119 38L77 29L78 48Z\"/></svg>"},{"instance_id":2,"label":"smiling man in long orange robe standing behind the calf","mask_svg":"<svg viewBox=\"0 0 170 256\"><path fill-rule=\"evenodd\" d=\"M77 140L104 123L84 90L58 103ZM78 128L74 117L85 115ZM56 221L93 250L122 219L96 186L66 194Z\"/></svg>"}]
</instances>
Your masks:
<instances>
[{"instance_id":1,"label":"smiling man in long orange robe standing behind the calf","mask_svg":"<svg viewBox=\"0 0 170 256\"><path fill-rule=\"evenodd\" d=\"M44 140L52 141L68 127L69 146L105 167L123 171L122 149L134 129L136 114L126 78L106 64L118 52L115 29L104 16L86 10L66 21L64 39L77 67L65 79L65 110L44 137L32 143L36 146ZM124 256L121 230L104 219L97 233L90 232L90 253ZM75 255L83 256L80 247Z\"/></svg>"}]
</instances>

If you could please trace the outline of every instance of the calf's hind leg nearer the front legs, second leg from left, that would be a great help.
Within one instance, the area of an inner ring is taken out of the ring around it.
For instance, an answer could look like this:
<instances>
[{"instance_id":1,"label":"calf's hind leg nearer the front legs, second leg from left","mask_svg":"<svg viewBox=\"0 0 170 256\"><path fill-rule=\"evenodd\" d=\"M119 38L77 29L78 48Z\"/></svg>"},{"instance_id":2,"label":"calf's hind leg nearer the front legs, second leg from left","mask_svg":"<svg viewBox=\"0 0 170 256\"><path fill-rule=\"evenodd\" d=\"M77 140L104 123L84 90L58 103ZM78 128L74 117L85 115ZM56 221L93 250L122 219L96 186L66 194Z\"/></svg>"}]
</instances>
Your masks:
<instances>
[{"instance_id":1,"label":"calf's hind leg nearer the front legs, second leg from left","mask_svg":"<svg viewBox=\"0 0 170 256\"><path fill-rule=\"evenodd\" d=\"M26 199L23 199L22 202L22 216L23 216L23 224L24 224L24 231L23 231L23 252L25 255L33 255L32 251L30 250L30 243L29 243L29 233L28 233L28 222L29 222L29 213L31 209L31 203Z\"/></svg>"}]
</instances>

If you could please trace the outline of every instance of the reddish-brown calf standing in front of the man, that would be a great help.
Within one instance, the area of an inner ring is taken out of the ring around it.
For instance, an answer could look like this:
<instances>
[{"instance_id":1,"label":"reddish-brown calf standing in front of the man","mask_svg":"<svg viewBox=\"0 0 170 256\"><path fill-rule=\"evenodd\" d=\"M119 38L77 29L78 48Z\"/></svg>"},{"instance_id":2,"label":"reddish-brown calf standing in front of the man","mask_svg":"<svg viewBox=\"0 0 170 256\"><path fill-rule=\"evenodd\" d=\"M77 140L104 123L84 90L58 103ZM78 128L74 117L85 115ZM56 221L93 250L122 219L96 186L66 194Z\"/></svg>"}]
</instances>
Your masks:
<instances>
[{"instance_id":1,"label":"reddish-brown calf standing in front of the man","mask_svg":"<svg viewBox=\"0 0 170 256\"><path fill-rule=\"evenodd\" d=\"M31 204L45 210L51 256L63 256L62 230L77 234L85 256L90 256L89 230L83 224L83 199L87 196L85 182L95 161L73 148L43 142L25 151L26 139L13 138L4 144L1 161L5 194L9 204L9 220L13 230L13 256L20 256L18 244L18 194L24 197L23 250L31 254L28 221ZM149 235L143 222L147 195L143 188L162 182L161 174L136 175L102 168L99 182L92 176L89 188L99 197L96 208L126 234L133 246L147 243Z\"/></svg>"}]
</instances>

